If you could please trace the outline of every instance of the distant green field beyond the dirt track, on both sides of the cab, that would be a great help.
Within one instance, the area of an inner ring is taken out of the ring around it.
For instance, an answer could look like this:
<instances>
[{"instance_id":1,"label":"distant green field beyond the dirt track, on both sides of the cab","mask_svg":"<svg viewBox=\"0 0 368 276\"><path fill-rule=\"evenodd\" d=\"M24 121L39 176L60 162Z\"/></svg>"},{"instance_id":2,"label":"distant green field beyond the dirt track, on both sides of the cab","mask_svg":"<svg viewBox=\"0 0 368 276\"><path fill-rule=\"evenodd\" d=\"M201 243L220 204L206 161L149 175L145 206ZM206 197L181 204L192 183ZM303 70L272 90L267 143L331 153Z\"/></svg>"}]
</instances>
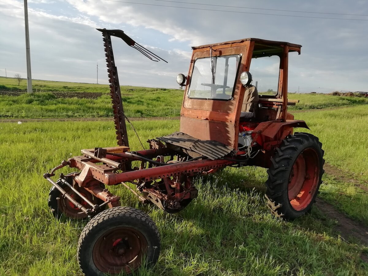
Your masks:
<instances>
[{"instance_id":1,"label":"distant green field beyond the dirt track, on both sides of the cab","mask_svg":"<svg viewBox=\"0 0 368 276\"><path fill-rule=\"evenodd\" d=\"M0 95L0 118L88 118L112 117L108 85L79 84L73 82L34 81L31 95ZM1 85L8 89L26 89L12 78L0 77ZM3 88L4 89L4 88ZM40 92L41 91L41 92ZM52 92L102 92L97 99L57 98ZM180 116L183 90L121 86L125 113L128 117ZM339 97L323 94L289 94L300 103L289 110L322 109L364 105L368 98Z\"/></svg>"}]
</instances>

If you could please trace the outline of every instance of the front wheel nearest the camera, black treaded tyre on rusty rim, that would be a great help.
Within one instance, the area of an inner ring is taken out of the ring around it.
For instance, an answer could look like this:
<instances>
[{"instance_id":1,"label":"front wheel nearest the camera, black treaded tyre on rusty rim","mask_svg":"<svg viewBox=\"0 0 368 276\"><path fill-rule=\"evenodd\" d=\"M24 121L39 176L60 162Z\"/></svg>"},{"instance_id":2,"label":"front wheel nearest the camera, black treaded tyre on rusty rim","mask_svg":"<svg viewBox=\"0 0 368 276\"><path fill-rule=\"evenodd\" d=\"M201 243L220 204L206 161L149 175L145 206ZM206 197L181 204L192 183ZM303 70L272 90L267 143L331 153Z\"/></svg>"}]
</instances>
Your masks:
<instances>
[{"instance_id":1,"label":"front wheel nearest the camera, black treaded tyre on rusty rim","mask_svg":"<svg viewBox=\"0 0 368 276\"><path fill-rule=\"evenodd\" d=\"M94 216L78 241L78 263L87 276L130 275L156 263L159 255L155 223L130 207L115 207Z\"/></svg>"}]
</instances>

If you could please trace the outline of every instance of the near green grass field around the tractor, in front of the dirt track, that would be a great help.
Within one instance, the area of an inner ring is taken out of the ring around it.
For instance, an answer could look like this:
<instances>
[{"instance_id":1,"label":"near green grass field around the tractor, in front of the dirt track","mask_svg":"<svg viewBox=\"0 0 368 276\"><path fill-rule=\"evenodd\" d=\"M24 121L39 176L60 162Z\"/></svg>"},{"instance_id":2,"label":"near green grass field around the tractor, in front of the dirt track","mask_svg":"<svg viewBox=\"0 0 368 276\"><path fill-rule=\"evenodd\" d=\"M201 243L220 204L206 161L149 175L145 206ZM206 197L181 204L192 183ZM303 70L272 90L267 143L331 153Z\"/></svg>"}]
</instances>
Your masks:
<instances>
[{"instance_id":1,"label":"near green grass field around the tractor, in front of the dirt track","mask_svg":"<svg viewBox=\"0 0 368 276\"><path fill-rule=\"evenodd\" d=\"M325 158L368 180L365 106L296 114ZM142 141L178 129L178 121L137 121ZM139 143L129 128L131 149ZM304 131L304 130L299 130ZM81 275L75 252L86 222L56 222L42 174L80 149L116 144L106 122L0 123L0 275ZM263 197L265 169L226 168L198 180L199 197L177 215L142 206L121 187L122 204L147 212L162 237L158 264L141 275L368 275L367 247L341 240L317 208L294 222L273 217ZM368 226L367 194L325 175L320 197ZM352 207L353 206L353 207Z\"/></svg>"}]
</instances>

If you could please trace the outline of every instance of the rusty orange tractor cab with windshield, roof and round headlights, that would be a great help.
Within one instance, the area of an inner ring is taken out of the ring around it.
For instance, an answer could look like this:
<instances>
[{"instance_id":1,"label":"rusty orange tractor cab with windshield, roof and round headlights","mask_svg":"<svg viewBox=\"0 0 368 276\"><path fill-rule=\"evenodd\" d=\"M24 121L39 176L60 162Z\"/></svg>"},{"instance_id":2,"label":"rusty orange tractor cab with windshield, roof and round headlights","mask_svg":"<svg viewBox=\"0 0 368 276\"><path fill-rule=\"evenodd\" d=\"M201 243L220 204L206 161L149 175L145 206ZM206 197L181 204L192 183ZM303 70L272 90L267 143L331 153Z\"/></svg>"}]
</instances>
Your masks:
<instances>
[{"instance_id":1,"label":"rusty orange tractor cab with windshield, roof and round headlights","mask_svg":"<svg viewBox=\"0 0 368 276\"><path fill-rule=\"evenodd\" d=\"M237 150L244 146L238 141L242 130L254 130L267 121L293 119L287 105L298 101L287 100L288 55L300 54L301 45L247 38L192 49L187 77L177 76L178 84L185 86L180 132ZM279 60L276 92L259 95L251 63L275 57Z\"/></svg>"}]
</instances>

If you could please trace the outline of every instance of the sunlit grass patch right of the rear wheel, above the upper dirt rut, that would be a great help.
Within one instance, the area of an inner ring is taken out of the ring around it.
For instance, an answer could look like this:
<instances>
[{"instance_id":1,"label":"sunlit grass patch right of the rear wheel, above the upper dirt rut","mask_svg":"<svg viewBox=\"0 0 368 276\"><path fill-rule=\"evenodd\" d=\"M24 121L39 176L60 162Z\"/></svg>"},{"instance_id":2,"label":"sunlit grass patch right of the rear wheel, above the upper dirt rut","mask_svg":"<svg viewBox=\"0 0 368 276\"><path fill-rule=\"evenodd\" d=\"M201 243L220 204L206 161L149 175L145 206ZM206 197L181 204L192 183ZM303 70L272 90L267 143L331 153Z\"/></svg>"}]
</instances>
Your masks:
<instances>
[{"instance_id":1,"label":"sunlit grass patch right of the rear wheel, above the upper dirt rut","mask_svg":"<svg viewBox=\"0 0 368 276\"><path fill-rule=\"evenodd\" d=\"M329 163L368 180L367 106L295 113L295 119L306 121L309 132L319 137Z\"/></svg>"}]
</instances>

